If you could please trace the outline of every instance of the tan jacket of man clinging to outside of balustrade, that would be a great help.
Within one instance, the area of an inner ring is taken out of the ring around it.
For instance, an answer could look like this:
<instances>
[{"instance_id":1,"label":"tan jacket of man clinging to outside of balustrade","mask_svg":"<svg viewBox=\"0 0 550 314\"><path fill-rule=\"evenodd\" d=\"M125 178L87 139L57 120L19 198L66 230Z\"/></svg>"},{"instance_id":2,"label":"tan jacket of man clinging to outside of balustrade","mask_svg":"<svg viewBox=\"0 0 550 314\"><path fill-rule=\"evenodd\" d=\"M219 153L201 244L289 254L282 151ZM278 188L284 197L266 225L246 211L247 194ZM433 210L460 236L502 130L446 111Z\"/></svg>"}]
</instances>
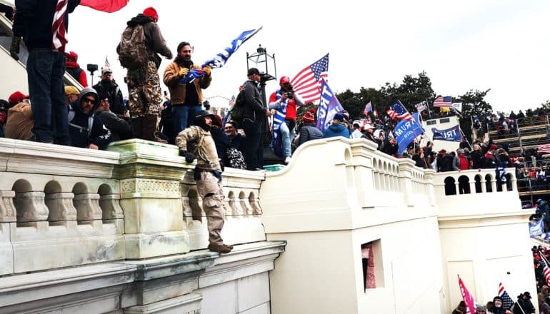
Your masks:
<instances>
[{"instance_id":1,"label":"tan jacket of man clinging to outside of balustrade","mask_svg":"<svg viewBox=\"0 0 550 314\"><path fill-rule=\"evenodd\" d=\"M176 136L176 145L180 151L195 155L197 168L221 172L216 144L210 131L204 131L200 126L189 126Z\"/></svg>"}]
</instances>

